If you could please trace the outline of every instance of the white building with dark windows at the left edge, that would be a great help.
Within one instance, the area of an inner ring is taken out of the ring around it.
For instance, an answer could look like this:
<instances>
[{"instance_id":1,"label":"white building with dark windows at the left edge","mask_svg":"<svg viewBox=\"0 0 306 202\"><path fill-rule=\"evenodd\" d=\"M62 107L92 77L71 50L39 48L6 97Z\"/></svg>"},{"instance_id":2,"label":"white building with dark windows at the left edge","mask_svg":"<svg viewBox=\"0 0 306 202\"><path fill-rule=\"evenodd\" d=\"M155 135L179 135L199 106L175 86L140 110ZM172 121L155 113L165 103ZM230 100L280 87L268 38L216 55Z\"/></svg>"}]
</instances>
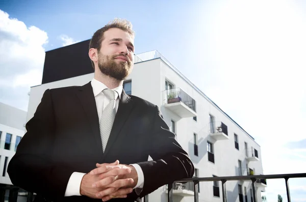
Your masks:
<instances>
[{"instance_id":1,"label":"white building with dark windows at the left edge","mask_svg":"<svg viewBox=\"0 0 306 202\"><path fill-rule=\"evenodd\" d=\"M0 102L0 184L12 185L7 173L9 161L24 135L27 111Z\"/></svg>"}]
</instances>

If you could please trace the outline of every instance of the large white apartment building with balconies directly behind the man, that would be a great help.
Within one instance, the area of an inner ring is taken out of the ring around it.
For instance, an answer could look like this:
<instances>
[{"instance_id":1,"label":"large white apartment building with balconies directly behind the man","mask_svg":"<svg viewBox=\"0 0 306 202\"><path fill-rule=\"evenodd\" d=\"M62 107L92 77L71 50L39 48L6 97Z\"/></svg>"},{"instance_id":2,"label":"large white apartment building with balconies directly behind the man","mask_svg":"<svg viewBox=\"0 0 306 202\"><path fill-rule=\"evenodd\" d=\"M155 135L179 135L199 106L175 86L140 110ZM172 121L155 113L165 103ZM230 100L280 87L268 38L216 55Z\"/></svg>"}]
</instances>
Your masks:
<instances>
[{"instance_id":1,"label":"large white apartment building with balconies directly behind the man","mask_svg":"<svg viewBox=\"0 0 306 202\"><path fill-rule=\"evenodd\" d=\"M89 73L33 86L27 121L33 117L46 89L84 85L92 78L93 73ZM189 153L196 168L196 177L263 174L261 148L254 138L158 51L135 55L134 69L123 87L127 94L160 107L170 130ZM257 201L261 201L261 191L265 186L264 182L257 183ZM174 201L194 200L190 183L176 184L174 188ZM228 181L226 193L230 202L253 201L250 181ZM149 201L167 201L166 186L149 194ZM222 201L221 182L200 182L199 201Z\"/></svg>"}]
</instances>

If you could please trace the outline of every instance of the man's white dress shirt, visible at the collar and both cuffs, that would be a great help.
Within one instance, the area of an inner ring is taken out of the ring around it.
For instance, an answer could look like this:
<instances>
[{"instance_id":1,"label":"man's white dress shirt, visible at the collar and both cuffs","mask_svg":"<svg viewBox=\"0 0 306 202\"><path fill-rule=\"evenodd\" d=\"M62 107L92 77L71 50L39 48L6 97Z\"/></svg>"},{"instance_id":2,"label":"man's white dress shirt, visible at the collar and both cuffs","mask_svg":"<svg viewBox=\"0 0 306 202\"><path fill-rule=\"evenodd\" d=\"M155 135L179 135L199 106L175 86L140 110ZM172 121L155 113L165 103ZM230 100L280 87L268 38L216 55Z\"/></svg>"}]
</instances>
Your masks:
<instances>
[{"instance_id":1,"label":"man's white dress shirt, visible at the collar and both cuffs","mask_svg":"<svg viewBox=\"0 0 306 202\"><path fill-rule=\"evenodd\" d=\"M98 117L100 121L103 109L105 109L105 107L110 103L110 100L102 92L104 89L107 89L107 86L104 83L101 83L100 81L94 78L91 80L91 86L92 86L93 95L95 98L97 112L98 112ZM115 89L112 89L115 92L117 92L115 96L116 103L114 106L116 111L118 110L122 89L123 89L122 85L118 86ZM100 162L97 162L97 163L100 163ZM141 192L141 189L143 188L143 184L144 184L143 171L137 163L131 164L131 165L135 167L137 175L138 175L138 182L137 182L137 185L134 187L134 189L140 188L140 189L137 189L137 193L139 193L139 191ZM80 196L81 195L80 187L81 187L81 182L82 182L84 175L85 173L83 172L73 172L71 174L67 187L66 187L65 196L73 196L73 195Z\"/></svg>"}]
</instances>

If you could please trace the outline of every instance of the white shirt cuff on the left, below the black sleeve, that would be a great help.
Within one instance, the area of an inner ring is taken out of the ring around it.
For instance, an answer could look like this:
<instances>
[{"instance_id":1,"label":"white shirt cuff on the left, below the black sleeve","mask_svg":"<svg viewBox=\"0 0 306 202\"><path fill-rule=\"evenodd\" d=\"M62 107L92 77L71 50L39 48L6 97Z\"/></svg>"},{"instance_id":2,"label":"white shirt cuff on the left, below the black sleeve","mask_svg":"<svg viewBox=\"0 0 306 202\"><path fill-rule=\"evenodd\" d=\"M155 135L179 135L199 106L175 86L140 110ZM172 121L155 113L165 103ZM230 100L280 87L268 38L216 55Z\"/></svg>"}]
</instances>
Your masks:
<instances>
[{"instance_id":1,"label":"white shirt cuff on the left, below the black sleeve","mask_svg":"<svg viewBox=\"0 0 306 202\"><path fill-rule=\"evenodd\" d=\"M86 174L83 172L73 172L69 178L65 196L81 196L80 187L83 177Z\"/></svg>"}]
</instances>

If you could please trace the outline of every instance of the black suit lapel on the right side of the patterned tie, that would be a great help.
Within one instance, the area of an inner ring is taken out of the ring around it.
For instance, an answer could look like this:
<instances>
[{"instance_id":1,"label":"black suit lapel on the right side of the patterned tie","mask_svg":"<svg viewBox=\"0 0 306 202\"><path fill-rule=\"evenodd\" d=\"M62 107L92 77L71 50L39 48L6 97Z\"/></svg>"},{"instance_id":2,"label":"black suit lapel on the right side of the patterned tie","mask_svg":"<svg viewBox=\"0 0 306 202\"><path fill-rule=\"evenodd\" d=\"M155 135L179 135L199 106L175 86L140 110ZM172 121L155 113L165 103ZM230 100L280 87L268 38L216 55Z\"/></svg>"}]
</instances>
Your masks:
<instances>
[{"instance_id":1,"label":"black suit lapel on the right side of the patterned tie","mask_svg":"<svg viewBox=\"0 0 306 202\"><path fill-rule=\"evenodd\" d=\"M126 95L124 90L122 90L121 99L119 101L118 111L116 113L116 117L114 120L114 124L112 127L112 131L104 152L104 156L107 155L107 153L111 150L111 147L115 143L121 128L123 127L125 121L129 117L129 114L131 113L133 108L131 97Z\"/></svg>"}]
</instances>

